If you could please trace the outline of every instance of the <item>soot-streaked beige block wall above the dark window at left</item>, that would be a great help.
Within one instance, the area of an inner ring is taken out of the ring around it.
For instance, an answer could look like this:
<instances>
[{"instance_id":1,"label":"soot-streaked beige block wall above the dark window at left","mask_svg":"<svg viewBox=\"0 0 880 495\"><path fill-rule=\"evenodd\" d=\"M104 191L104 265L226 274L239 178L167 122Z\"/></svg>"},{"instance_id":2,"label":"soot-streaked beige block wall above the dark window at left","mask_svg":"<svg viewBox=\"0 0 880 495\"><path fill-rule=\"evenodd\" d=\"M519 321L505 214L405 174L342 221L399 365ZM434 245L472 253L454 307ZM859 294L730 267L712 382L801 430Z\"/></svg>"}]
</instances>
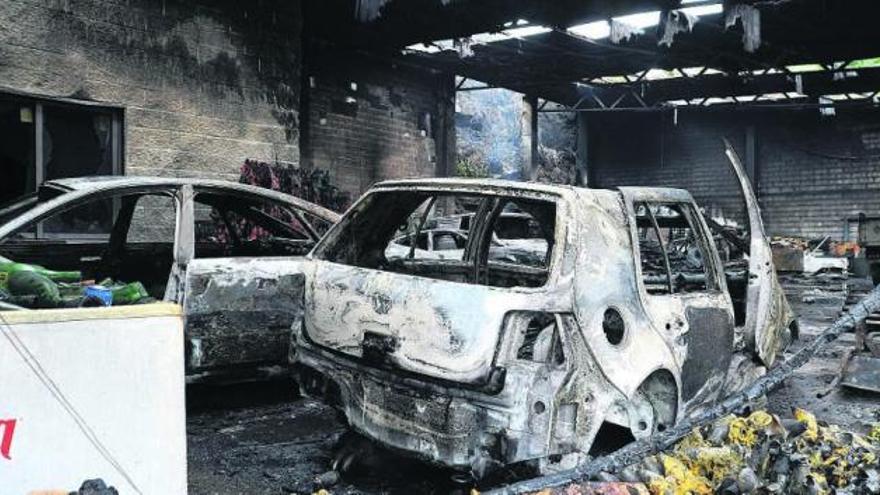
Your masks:
<instances>
[{"instance_id":1,"label":"soot-streaked beige block wall above the dark window at left","mask_svg":"<svg viewBox=\"0 0 880 495\"><path fill-rule=\"evenodd\" d=\"M126 173L237 180L299 162L299 5L6 1L0 86L123 107Z\"/></svg>"}]
</instances>

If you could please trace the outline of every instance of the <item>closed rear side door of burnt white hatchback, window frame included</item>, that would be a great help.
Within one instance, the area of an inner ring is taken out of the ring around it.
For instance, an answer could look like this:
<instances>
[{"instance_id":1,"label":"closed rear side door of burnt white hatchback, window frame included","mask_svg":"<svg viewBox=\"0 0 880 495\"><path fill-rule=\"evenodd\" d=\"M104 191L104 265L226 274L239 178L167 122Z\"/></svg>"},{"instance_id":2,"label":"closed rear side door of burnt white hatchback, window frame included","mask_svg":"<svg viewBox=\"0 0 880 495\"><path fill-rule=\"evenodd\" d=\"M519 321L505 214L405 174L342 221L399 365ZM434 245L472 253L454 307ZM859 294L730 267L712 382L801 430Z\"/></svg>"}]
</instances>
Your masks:
<instances>
[{"instance_id":1,"label":"closed rear side door of burnt white hatchback, window frame included","mask_svg":"<svg viewBox=\"0 0 880 495\"><path fill-rule=\"evenodd\" d=\"M733 357L733 306L692 201L636 200L633 211L646 309L681 367L687 413L722 391Z\"/></svg>"}]
</instances>

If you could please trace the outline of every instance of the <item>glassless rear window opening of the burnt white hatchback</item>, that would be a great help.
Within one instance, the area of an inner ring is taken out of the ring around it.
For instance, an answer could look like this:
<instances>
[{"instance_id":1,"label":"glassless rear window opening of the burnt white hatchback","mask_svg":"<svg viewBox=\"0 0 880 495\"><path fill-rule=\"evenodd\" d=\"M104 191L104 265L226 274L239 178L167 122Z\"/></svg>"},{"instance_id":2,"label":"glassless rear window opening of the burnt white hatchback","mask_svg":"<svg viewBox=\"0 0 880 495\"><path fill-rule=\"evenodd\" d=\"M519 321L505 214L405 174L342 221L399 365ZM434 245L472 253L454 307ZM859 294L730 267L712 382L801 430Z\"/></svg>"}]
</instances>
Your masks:
<instances>
[{"instance_id":1,"label":"glassless rear window opening of the burnt white hatchback","mask_svg":"<svg viewBox=\"0 0 880 495\"><path fill-rule=\"evenodd\" d=\"M356 208L319 258L494 287L547 282L551 200L396 191L371 194Z\"/></svg>"}]
</instances>

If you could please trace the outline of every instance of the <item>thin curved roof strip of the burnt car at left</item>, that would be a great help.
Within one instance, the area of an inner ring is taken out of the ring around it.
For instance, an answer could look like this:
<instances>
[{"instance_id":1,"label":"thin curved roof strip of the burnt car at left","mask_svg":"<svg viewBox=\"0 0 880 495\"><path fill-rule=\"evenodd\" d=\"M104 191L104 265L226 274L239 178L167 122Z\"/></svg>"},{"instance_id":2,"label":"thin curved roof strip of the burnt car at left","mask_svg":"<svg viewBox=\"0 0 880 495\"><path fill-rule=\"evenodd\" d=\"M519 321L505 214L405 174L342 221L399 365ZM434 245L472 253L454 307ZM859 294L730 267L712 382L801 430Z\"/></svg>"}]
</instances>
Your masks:
<instances>
[{"instance_id":1,"label":"thin curved roof strip of the burnt car at left","mask_svg":"<svg viewBox=\"0 0 880 495\"><path fill-rule=\"evenodd\" d=\"M230 191L238 191L249 194L257 194L260 196L265 196L269 198L275 198L280 201L284 201L287 203L291 203L297 207L302 208L314 215L317 215L325 220L331 222L337 222L339 220L339 214L324 208L323 206L317 205L315 203L306 201L302 198L298 198L296 196L273 191L271 189L266 189L264 187L252 186L249 184L241 184L238 182L225 181L225 180L217 180L217 179L196 179L196 178L182 178L182 177L148 177L148 176L107 176L107 175L99 175L99 176L91 176L91 177L70 177L65 179L53 179L43 183L40 187L49 187L56 190L62 190L66 192L73 191L104 191L107 189L117 189L123 187L181 187L184 185L212 188L212 189L225 189Z\"/></svg>"}]
</instances>

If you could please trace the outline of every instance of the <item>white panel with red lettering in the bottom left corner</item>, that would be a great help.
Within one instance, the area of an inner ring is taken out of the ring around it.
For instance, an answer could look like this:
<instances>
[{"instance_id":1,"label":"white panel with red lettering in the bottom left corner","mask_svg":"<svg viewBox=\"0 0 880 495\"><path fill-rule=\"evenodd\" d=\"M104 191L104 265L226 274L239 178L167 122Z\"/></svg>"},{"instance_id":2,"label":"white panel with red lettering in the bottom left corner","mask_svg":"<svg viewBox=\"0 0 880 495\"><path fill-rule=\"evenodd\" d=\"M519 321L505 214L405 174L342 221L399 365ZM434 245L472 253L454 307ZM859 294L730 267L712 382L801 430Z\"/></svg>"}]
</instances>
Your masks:
<instances>
[{"instance_id":1,"label":"white panel with red lettering in the bottom left corner","mask_svg":"<svg viewBox=\"0 0 880 495\"><path fill-rule=\"evenodd\" d=\"M28 316L43 316L31 321L23 312L5 313L13 322L0 334L0 442L2 422L15 420L16 426L9 458L0 455L4 494L74 491L93 478L120 493L186 493L179 310L122 309L34 311ZM27 365L10 342L16 336L137 488Z\"/></svg>"}]
</instances>

